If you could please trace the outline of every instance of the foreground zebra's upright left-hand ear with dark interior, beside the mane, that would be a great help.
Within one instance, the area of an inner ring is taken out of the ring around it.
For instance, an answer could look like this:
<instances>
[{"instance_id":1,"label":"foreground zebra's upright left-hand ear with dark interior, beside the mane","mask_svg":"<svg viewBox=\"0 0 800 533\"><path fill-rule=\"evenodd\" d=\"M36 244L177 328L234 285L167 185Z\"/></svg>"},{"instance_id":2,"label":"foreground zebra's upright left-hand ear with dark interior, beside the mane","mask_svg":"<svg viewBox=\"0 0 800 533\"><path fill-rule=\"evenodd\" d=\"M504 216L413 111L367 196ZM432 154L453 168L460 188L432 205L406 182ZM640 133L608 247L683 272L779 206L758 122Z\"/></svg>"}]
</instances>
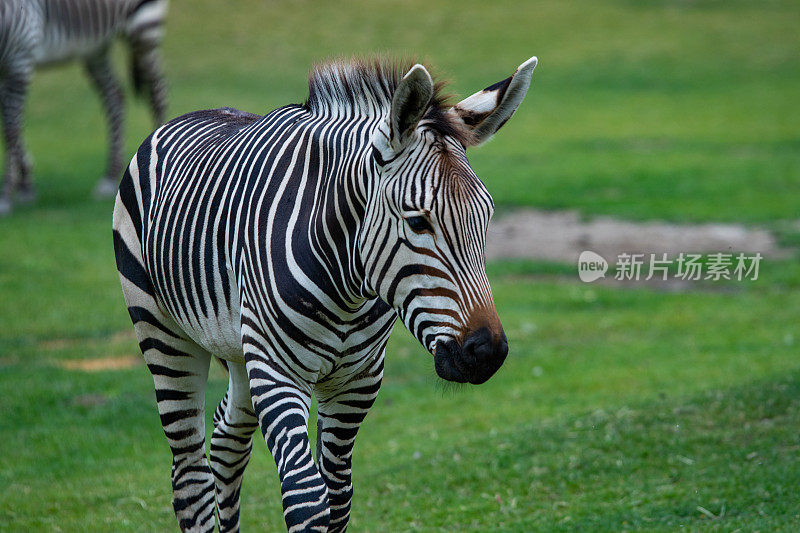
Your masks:
<instances>
[{"instance_id":1,"label":"foreground zebra's upright left-hand ear with dark interior, beside the mane","mask_svg":"<svg viewBox=\"0 0 800 533\"><path fill-rule=\"evenodd\" d=\"M433 80L419 63L403 76L392 97L389 114L389 144L399 152L414 137L422 115L433 98Z\"/></svg>"}]
</instances>

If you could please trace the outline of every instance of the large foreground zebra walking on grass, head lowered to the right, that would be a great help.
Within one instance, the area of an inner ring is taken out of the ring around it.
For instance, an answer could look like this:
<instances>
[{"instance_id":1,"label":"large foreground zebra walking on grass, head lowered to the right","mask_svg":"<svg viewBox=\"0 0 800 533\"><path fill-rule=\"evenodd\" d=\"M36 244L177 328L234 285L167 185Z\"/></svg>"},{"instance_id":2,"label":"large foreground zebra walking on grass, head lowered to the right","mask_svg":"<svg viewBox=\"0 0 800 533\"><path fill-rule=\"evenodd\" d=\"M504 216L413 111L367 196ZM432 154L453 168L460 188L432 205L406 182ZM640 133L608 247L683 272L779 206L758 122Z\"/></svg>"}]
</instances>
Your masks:
<instances>
[{"instance_id":1,"label":"large foreground zebra walking on grass, head lowered to the right","mask_svg":"<svg viewBox=\"0 0 800 533\"><path fill-rule=\"evenodd\" d=\"M485 272L494 204L466 158L517 109L535 57L455 104L411 62L315 67L305 103L197 111L154 131L113 215L120 282L153 375L184 531L239 528L259 428L289 531L344 531L353 444L399 318L444 380L508 353ZM228 388L205 455L212 358ZM317 400L316 451L308 436Z\"/></svg>"}]
</instances>

